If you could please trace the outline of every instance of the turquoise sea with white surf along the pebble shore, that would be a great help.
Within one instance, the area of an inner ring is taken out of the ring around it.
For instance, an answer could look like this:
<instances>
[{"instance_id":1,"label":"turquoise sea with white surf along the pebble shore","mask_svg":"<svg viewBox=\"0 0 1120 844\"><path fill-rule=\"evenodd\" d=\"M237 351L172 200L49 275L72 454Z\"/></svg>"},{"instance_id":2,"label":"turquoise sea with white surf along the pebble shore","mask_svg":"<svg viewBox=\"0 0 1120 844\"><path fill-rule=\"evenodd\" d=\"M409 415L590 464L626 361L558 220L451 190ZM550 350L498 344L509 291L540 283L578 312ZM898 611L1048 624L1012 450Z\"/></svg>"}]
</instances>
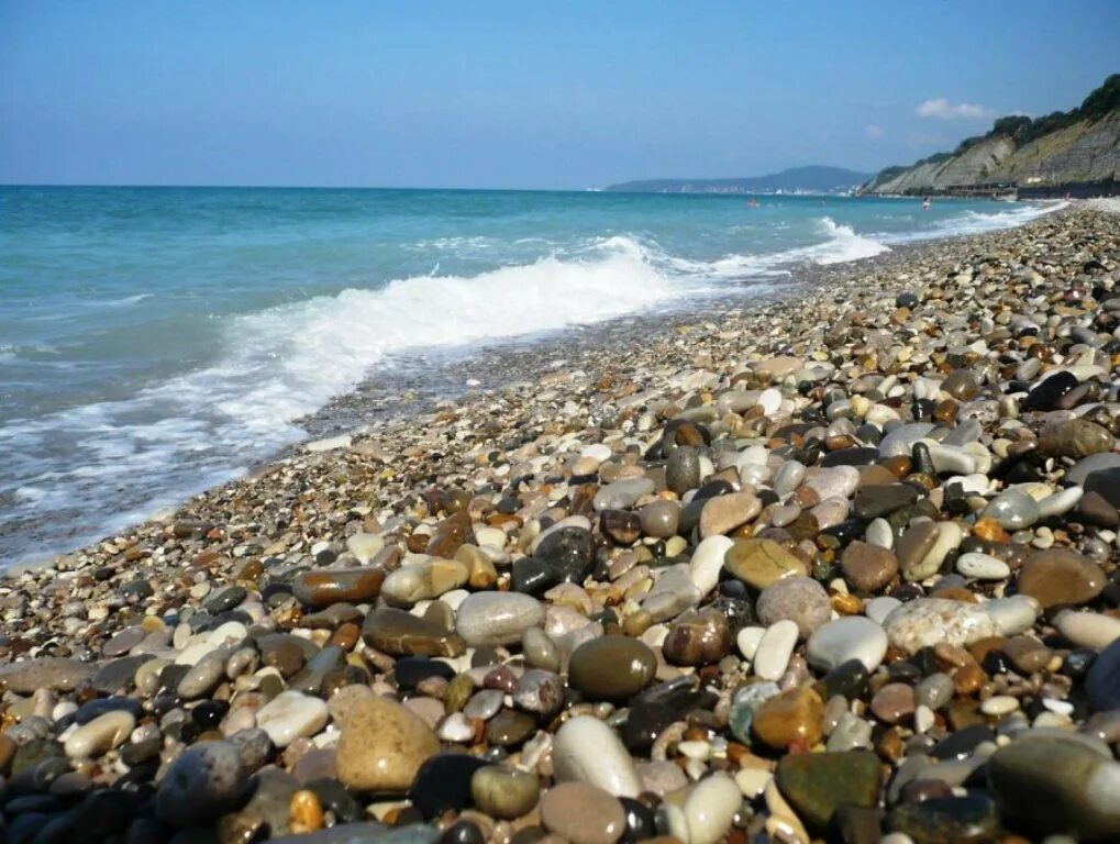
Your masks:
<instances>
[{"instance_id":1,"label":"turquoise sea with white surf along the pebble shore","mask_svg":"<svg viewBox=\"0 0 1120 844\"><path fill-rule=\"evenodd\" d=\"M469 356L1054 205L0 187L0 568L242 475L410 357Z\"/></svg>"}]
</instances>

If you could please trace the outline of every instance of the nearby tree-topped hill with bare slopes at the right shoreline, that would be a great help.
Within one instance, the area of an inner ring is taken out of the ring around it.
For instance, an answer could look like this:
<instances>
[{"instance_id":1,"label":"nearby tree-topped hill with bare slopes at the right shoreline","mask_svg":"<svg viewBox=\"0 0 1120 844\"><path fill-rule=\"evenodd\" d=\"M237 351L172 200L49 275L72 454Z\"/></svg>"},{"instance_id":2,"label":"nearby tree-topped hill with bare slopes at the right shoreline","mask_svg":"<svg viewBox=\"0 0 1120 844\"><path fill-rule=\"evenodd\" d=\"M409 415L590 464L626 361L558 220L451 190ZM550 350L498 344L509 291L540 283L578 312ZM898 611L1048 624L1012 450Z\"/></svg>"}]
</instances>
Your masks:
<instances>
[{"instance_id":1,"label":"nearby tree-topped hill with bare slopes at the right shoreline","mask_svg":"<svg viewBox=\"0 0 1120 844\"><path fill-rule=\"evenodd\" d=\"M888 167L862 186L869 194L954 194L1018 188L1020 196L1120 190L1120 74L1076 109L1042 118L1012 115L989 132L908 167Z\"/></svg>"}]
</instances>

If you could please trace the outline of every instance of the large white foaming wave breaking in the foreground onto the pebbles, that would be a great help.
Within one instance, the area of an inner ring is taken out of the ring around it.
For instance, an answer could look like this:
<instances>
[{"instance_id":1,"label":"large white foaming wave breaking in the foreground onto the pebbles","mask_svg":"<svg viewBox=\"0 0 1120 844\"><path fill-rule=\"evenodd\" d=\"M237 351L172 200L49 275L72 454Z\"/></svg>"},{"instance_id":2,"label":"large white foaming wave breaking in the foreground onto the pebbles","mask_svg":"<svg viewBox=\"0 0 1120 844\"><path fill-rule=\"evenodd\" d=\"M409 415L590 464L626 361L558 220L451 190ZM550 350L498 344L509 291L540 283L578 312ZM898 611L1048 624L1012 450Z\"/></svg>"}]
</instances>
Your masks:
<instances>
[{"instance_id":1,"label":"large white foaming wave breaking in the foreground onto the pebbles","mask_svg":"<svg viewBox=\"0 0 1120 844\"><path fill-rule=\"evenodd\" d=\"M30 524L49 508L88 528L65 544L92 541L300 439L300 418L355 387L391 355L598 322L682 292L653 252L632 238L609 238L586 253L470 278L404 278L232 318L214 366L128 400L0 428L0 498L7 491L13 499L4 517ZM109 507L116 510L112 518L90 524L91 514L108 515ZM15 541L0 536L0 559L25 553L6 547ZM59 550L37 545L39 554Z\"/></svg>"}]
</instances>

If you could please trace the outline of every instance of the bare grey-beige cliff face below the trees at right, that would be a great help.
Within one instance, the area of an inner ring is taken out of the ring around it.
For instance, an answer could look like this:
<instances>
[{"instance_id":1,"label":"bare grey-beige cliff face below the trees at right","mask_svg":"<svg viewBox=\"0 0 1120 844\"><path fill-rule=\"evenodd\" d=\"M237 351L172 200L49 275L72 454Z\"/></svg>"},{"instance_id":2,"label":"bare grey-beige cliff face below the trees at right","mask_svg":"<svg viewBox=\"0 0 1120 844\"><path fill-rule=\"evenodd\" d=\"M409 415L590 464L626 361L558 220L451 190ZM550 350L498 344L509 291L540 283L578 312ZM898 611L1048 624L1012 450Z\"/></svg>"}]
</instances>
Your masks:
<instances>
[{"instance_id":1,"label":"bare grey-beige cliff face below the trees at right","mask_svg":"<svg viewBox=\"0 0 1120 844\"><path fill-rule=\"evenodd\" d=\"M885 170L864 191L936 194L990 184L1025 187L1084 181L1120 181L1120 109L1021 146L1010 137L986 137L948 158L900 171Z\"/></svg>"}]
</instances>

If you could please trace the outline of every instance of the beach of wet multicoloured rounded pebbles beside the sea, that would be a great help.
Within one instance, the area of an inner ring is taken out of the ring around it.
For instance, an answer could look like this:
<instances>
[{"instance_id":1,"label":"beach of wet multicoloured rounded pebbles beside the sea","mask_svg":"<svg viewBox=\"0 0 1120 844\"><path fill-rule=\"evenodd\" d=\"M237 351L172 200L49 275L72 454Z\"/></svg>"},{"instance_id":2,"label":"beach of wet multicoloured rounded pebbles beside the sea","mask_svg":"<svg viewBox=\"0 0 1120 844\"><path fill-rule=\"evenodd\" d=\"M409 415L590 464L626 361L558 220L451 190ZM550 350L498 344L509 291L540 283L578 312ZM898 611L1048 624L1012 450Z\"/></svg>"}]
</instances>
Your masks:
<instances>
[{"instance_id":1,"label":"beach of wet multicoloured rounded pebbles beside the sea","mask_svg":"<svg viewBox=\"0 0 1120 844\"><path fill-rule=\"evenodd\" d=\"M0 837L1120 841L1114 210L356 394L10 570Z\"/></svg>"}]
</instances>

